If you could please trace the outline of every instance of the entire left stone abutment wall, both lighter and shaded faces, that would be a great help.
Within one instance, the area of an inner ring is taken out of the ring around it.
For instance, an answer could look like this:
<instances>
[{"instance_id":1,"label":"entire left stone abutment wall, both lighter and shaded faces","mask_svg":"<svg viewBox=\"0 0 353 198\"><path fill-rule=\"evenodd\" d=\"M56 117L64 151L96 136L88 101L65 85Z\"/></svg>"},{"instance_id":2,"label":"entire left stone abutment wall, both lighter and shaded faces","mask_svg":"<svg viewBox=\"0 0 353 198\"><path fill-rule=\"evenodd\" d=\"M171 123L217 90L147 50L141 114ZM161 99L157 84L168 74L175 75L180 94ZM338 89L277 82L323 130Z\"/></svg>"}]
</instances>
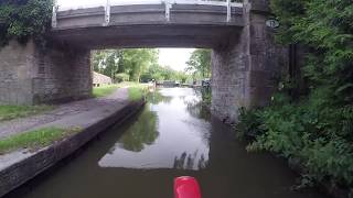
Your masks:
<instances>
[{"instance_id":1,"label":"entire left stone abutment wall, both lighter and shaded faces","mask_svg":"<svg viewBox=\"0 0 353 198\"><path fill-rule=\"evenodd\" d=\"M89 51L11 41L0 50L0 103L52 103L92 94Z\"/></svg>"}]
</instances>

